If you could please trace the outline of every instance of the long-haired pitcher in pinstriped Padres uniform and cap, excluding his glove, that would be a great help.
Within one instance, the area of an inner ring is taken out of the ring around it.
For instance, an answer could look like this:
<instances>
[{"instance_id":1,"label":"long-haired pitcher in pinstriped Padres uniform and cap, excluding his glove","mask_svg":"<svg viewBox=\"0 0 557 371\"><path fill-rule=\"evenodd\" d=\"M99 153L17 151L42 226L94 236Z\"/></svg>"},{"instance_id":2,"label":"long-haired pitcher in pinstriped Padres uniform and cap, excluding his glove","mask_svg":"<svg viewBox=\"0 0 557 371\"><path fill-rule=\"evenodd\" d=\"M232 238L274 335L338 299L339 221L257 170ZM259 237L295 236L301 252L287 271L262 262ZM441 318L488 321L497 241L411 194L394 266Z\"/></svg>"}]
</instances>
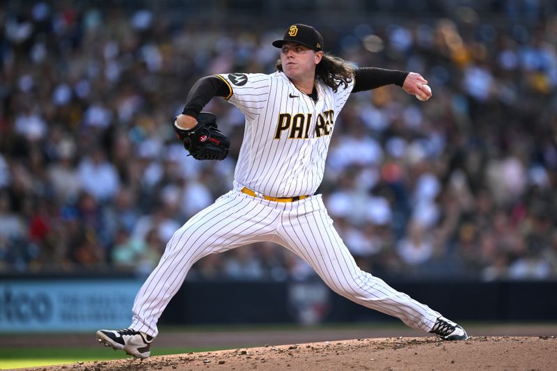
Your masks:
<instances>
[{"instance_id":1,"label":"long-haired pitcher in pinstriped Padres uniform and cap, excluding his glove","mask_svg":"<svg viewBox=\"0 0 557 371\"><path fill-rule=\"evenodd\" d=\"M264 241L299 255L347 299L444 340L466 340L461 326L356 266L319 190L336 118L350 94L396 84L427 100L427 81L415 72L354 68L324 52L322 35L305 24L292 24L273 45L281 50L276 72L215 74L191 88L174 121L178 131L195 130L212 97L244 113L233 190L174 233L136 296L130 327L99 330L97 340L147 358L157 321L191 266L206 255Z\"/></svg>"}]
</instances>

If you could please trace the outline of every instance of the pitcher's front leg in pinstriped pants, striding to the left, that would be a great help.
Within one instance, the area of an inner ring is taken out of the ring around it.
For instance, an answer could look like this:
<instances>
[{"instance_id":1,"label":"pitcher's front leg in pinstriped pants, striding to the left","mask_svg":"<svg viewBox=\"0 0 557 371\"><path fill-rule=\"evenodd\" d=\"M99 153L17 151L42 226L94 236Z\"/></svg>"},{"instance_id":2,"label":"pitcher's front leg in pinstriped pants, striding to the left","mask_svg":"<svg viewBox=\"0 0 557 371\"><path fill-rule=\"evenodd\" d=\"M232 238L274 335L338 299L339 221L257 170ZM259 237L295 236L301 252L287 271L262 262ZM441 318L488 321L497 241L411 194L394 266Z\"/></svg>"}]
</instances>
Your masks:
<instances>
[{"instance_id":1,"label":"pitcher's front leg in pinstriped pants, striding to the left","mask_svg":"<svg viewBox=\"0 0 557 371\"><path fill-rule=\"evenodd\" d=\"M157 321L196 261L264 238L277 212L230 192L177 230L136 295L132 329L157 336Z\"/></svg>"}]
</instances>

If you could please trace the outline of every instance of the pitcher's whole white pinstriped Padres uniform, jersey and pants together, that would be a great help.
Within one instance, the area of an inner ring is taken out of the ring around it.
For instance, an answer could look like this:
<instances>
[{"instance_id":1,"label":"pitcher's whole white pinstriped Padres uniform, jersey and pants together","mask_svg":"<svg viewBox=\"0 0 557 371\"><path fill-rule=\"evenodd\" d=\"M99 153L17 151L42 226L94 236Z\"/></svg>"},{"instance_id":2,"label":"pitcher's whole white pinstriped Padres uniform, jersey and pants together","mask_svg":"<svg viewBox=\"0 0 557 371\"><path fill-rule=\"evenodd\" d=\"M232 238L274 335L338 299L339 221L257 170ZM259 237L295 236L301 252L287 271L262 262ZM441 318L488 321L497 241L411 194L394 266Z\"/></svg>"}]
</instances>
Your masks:
<instances>
[{"instance_id":1,"label":"pitcher's whole white pinstriped Padres uniform, jersey and pants together","mask_svg":"<svg viewBox=\"0 0 557 371\"><path fill-rule=\"evenodd\" d=\"M131 328L157 336L157 320L197 260L271 241L306 260L343 297L430 331L440 314L361 271L334 229L321 195L314 195L336 117L354 82L335 93L317 80L314 101L283 72L217 77L230 88L225 99L246 117L233 190L175 232L137 294ZM264 195L308 197L277 202Z\"/></svg>"}]
</instances>

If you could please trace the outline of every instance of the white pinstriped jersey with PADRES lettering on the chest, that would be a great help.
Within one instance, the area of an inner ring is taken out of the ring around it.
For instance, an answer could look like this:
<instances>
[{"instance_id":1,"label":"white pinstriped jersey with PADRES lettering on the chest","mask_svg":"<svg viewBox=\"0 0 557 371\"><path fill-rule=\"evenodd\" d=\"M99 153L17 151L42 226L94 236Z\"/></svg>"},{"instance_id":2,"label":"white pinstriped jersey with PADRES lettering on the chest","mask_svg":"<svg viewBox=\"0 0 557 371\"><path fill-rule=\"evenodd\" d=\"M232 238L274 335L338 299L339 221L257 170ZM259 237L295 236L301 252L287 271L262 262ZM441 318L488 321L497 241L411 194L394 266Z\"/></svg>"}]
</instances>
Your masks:
<instances>
[{"instance_id":1,"label":"white pinstriped jersey with PADRES lettering on the chest","mask_svg":"<svg viewBox=\"0 0 557 371\"><path fill-rule=\"evenodd\" d=\"M334 123L354 80L336 93L317 80L315 102L283 72L217 77L232 92L225 99L246 117L235 181L267 196L313 194L322 182Z\"/></svg>"}]
</instances>

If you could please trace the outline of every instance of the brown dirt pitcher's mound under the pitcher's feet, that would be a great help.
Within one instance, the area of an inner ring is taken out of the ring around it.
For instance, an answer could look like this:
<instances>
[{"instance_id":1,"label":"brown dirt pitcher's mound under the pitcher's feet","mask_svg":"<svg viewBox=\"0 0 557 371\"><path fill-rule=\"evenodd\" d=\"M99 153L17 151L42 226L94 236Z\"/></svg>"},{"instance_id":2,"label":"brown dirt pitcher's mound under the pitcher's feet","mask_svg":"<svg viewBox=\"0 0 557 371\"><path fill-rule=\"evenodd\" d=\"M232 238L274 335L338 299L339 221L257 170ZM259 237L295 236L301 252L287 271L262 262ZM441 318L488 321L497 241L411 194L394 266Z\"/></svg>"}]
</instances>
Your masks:
<instances>
[{"instance_id":1,"label":"brown dirt pitcher's mound under the pitcher's feet","mask_svg":"<svg viewBox=\"0 0 557 371\"><path fill-rule=\"evenodd\" d=\"M557 370L557 337L375 338L58 365L41 371Z\"/></svg>"}]
</instances>

